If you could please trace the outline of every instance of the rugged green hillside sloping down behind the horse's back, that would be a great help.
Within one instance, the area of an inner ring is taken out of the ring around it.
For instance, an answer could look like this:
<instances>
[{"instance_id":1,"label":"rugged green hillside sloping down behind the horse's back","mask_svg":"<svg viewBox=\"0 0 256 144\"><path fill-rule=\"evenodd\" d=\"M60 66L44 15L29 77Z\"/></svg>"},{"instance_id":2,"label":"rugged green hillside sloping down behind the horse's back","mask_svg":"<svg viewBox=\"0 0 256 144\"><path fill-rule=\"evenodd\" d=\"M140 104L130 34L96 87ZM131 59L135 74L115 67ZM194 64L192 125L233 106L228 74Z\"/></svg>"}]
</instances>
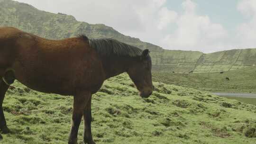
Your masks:
<instances>
[{"instance_id":1,"label":"rugged green hillside sloping down behind the horse's back","mask_svg":"<svg viewBox=\"0 0 256 144\"><path fill-rule=\"evenodd\" d=\"M138 38L124 36L103 24L88 24L73 16L38 10L31 5L13 0L0 0L0 26L12 26L49 39L62 39L81 34L91 38L115 38L142 49L161 50L159 46L141 42Z\"/></svg>"}]
</instances>

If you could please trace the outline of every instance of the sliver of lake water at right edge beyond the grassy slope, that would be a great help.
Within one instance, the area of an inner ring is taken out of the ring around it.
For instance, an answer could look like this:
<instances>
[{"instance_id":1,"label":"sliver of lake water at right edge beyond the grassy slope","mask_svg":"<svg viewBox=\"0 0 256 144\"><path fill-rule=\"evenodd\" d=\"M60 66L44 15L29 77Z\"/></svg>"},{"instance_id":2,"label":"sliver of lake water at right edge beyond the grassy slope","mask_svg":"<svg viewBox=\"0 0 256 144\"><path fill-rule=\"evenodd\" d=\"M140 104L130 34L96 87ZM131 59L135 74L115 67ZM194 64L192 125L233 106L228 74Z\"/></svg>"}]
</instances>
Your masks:
<instances>
[{"instance_id":1,"label":"sliver of lake water at right edge beyond the grassy slope","mask_svg":"<svg viewBox=\"0 0 256 144\"><path fill-rule=\"evenodd\" d=\"M237 99L239 101L256 105L256 94L255 93L222 93L222 92L213 92L213 94L225 97L228 99Z\"/></svg>"}]
</instances>

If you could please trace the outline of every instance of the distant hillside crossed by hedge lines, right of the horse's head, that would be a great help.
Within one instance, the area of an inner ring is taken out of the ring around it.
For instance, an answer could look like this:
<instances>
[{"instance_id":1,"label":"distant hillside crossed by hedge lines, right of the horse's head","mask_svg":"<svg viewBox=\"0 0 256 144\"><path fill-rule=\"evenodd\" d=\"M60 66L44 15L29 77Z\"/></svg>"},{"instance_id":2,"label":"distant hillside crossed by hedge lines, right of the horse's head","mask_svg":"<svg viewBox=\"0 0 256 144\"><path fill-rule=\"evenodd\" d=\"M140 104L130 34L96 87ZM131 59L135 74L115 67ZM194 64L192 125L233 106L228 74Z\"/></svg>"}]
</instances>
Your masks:
<instances>
[{"instance_id":1,"label":"distant hillside crossed by hedge lines, right of the horse's head","mask_svg":"<svg viewBox=\"0 0 256 144\"><path fill-rule=\"evenodd\" d=\"M211 54L165 50L155 53L153 71L157 72L222 72L256 64L256 49L236 49Z\"/></svg>"}]
</instances>

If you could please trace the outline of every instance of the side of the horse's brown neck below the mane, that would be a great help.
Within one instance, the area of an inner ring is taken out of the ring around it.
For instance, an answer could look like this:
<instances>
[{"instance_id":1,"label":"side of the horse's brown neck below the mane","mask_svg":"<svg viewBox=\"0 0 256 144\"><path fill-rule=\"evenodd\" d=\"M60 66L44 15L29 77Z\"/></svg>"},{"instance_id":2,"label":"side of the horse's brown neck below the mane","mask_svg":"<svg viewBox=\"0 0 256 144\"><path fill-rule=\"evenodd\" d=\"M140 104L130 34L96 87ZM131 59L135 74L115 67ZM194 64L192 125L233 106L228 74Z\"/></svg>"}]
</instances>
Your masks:
<instances>
[{"instance_id":1,"label":"side of the horse's brown neck below the mane","mask_svg":"<svg viewBox=\"0 0 256 144\"><path fill-rule=\"evenodd\" d=\"M103 69L106 79L127 72L128 68L134 63L132 58L127 57L107 57L102 59Z\"/></svg>"}]
</instances>

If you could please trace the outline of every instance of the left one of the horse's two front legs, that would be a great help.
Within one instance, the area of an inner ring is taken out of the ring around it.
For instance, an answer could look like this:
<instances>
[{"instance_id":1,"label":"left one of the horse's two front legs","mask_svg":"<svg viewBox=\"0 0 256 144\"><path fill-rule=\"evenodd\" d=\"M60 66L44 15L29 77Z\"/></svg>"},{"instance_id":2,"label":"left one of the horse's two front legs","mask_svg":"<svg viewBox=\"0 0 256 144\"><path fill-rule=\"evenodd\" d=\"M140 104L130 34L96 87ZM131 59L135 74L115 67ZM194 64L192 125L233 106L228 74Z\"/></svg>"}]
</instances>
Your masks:
<instances>
[{"instance_id":1,"label":"left one of the horse's two front legs","mask_svg":"<svg viewBox=\"0 0 256 144\"><path fill-rule=\"evenodd\" d=\"M68 144L77 144L77 133L81 123L83 110L91 98L90 92L79 92L74 96L72 127L69 135Z\"/></svg>"}]
</instances>

